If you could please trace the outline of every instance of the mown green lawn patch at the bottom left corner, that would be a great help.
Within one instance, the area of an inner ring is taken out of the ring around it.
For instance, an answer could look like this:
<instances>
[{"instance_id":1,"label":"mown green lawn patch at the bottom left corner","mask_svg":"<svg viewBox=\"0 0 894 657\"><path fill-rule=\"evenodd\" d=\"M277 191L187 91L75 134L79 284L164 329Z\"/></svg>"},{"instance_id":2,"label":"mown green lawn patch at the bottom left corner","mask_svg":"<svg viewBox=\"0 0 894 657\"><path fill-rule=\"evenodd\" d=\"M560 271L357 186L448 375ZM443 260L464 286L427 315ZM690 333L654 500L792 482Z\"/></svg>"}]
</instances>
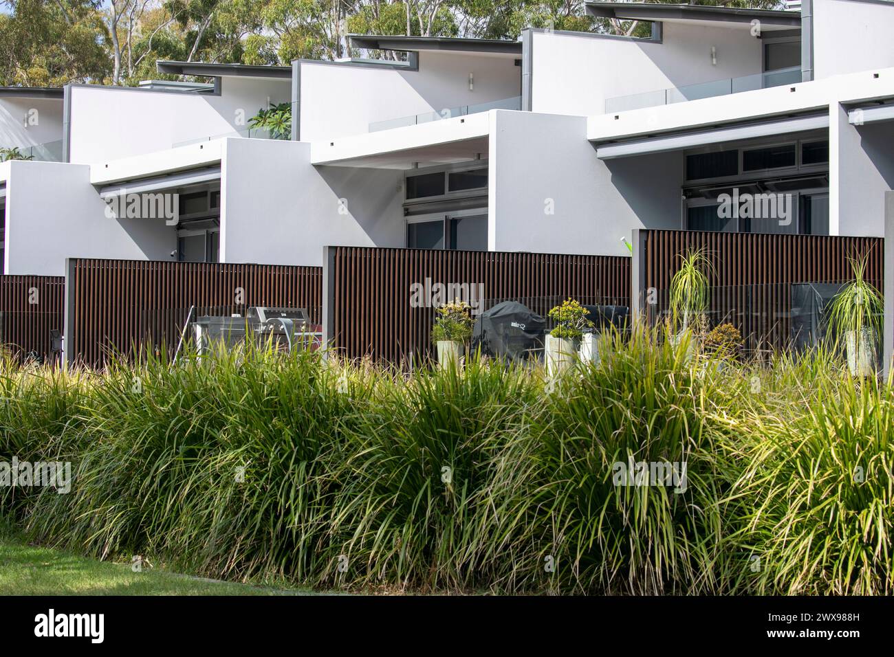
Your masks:
<instances>
[{"instance_id":1,"label":"mown green lawn patch at the bottom left corner","mask_svg":"<svg viewBox=\"0 0 894 657\"><path fill-rule=\"evenodd\" d=\"M306 589L272 589L187 577L158 569L133 572L110 563L29 545L0 536L0 595L283 595Z\"/></svg>"}]
</instances>

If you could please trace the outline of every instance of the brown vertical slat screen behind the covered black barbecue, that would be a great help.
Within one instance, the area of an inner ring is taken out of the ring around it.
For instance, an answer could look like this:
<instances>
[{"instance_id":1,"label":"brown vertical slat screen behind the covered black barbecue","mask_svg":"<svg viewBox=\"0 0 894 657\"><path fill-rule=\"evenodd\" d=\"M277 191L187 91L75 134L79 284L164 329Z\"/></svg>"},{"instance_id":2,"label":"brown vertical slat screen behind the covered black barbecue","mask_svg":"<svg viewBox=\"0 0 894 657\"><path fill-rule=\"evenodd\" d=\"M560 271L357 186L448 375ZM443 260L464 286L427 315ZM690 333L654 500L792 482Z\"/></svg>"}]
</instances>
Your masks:
<instances>
[{"instance_id":1,"label":"brown vertical slat screen behind the covered black barbecue","mask_svg":"<svg viewBox=\"0 0 894 657\"><path fill-rule=\"evenodd\" d=\"M480 284L485 309L517 299L541 315L568 297L620 306L630 298L629 257L330 247L327 262L333 263L327 334L348 358L399 362L430 353L434 308L410 304L411 285L425 289L426 279L431 286Z\"/></svg>"}]
</instances>

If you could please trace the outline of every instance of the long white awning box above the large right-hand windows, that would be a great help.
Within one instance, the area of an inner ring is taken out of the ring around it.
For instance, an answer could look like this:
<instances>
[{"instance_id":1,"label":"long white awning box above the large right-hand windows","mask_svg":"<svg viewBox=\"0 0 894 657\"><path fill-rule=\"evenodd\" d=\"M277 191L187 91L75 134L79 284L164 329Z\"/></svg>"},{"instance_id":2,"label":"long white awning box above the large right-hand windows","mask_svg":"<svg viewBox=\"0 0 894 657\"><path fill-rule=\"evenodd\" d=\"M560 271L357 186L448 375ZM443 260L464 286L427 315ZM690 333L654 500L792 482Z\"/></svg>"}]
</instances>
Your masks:
<instances>
[{"instance_id":1,"label":"long white awning box above the large right-hand windows","mask_svg":"<svg viewBox=\"0 0 894 657\"><path fill-rule=\"evenodd\" d=\"M770 137L772 135L818 130L828 127L829 114L818 114L815 116L803 116L797 119L786 119L784 121L755 123L734 128L719 128L712 131L687 132L686 134L669 137L654 137L652 139L605 144L596 147L596 156L603 160L611 160L616 157L663 153L672 150L707 146L709 144L719 144L725 141Z\"/></svg>"}]
</instances>

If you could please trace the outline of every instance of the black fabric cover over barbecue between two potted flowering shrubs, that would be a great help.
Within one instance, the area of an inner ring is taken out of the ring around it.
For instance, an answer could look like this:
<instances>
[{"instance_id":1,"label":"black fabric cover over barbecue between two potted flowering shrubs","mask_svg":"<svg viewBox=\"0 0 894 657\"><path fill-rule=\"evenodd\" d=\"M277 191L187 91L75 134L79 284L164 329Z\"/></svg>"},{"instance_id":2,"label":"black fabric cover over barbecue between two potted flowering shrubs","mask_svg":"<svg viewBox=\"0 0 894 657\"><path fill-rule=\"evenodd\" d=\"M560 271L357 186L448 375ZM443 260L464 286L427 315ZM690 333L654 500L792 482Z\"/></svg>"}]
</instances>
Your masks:
<instances>
[{"instance_id":1,"label":"black fabric cover over barbecue between two potted flowering shrubs","mask_svg":"<svg viewBox=\"0 0 894 657\"><path fill-rule=\"evenodd\" d=\"M472 350L493 358L517 361L536 356L544 347L542 316L518 301L503 301L485 310L475 320Z\"/></svg>"}]
</instances>

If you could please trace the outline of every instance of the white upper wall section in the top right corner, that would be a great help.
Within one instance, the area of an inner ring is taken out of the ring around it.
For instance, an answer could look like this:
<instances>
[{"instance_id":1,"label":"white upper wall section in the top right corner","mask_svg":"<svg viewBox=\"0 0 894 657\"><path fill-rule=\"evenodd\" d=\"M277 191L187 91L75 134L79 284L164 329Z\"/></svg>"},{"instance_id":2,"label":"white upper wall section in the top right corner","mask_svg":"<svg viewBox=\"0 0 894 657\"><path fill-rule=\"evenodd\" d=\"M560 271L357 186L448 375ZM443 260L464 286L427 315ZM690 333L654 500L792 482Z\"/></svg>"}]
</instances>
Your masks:
<instances>
[{"instance_id":1,"label":"white upper wall section in the top right corner","mask_svg":"<svg viewBox=\"0 0 894 657\"><path fill-rule=\"evenodd\" d=\"M814 1L814 80L894 66L894 3Z\"/></svg>"}]
</instances>

